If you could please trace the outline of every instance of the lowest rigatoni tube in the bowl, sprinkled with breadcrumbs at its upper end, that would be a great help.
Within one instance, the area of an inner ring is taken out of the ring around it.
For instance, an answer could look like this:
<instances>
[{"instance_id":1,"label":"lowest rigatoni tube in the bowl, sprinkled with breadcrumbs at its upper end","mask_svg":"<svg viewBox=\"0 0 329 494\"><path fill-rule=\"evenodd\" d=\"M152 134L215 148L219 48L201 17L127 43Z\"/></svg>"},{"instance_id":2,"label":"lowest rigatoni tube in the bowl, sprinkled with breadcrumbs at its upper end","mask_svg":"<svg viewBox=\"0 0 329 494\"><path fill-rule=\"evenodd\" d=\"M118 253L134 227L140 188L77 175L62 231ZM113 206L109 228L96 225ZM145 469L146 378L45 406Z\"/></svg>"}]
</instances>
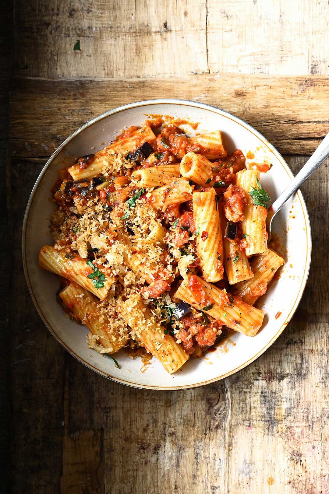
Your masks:
<instances>
[{"instance_id":1,"label":"lowest rigatoni tube in the bowl, sprinkled with breadcrumbs at its upper end","mask_svg":"<svg viewBox=\"0 0 329 494\"><path fill-rule=\"evenodd\" d=\"M164 333L141 297L130 297L123 303L122 317L136 333L146 350L154 355L170 374L178 371L188 360L188 354L170 334Z\"/></svg>"}]
</instances>

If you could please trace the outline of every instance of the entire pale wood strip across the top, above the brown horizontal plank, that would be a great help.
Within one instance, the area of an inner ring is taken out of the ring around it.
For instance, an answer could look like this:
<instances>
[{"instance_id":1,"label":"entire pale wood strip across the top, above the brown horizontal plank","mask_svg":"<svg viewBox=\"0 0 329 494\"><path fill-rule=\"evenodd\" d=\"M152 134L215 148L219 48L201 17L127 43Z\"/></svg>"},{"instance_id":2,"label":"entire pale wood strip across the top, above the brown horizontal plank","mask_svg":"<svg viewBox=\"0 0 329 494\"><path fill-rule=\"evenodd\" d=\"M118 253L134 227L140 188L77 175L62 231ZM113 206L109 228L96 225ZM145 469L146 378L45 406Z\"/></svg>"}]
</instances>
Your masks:
<instances>
[{"instance_id":1,"label":"entire pale wood strip across the top, above the brown horizontal plank","mask_svg":"<svg viewBox=\"0 0 329 494\"><path fill-rule=\"evenodd\" d=\"M15 75L329 75L327 0L14 4Z\"/></svg>"}]
</instances>

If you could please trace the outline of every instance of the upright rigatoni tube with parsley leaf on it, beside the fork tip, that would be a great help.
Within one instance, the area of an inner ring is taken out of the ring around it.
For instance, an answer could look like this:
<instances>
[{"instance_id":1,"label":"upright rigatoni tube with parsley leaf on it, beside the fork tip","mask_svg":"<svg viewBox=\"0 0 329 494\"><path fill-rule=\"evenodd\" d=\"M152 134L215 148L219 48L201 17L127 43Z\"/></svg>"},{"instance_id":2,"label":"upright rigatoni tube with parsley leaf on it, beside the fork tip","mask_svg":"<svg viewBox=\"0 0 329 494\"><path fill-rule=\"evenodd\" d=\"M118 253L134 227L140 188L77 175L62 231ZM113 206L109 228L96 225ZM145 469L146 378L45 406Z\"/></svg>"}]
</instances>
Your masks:
<instances>
[{"instance_id":1,"label":"upright rigatoni tube with parsley leaf on it, beside the fork tip","mask_svg":"<svg viewBox=\"0 0 329 494\"><path fill-rule=\"evenodd\" d=\"M247 205L244 209L244 219L241 221L241 233L247 242L245 253L248 257L267 252L265 223L267 209L263 206L255 206L249 194L253 191L253 187L257 188L256 179L259 180L258 170L241 170L236 173L236 185L242 187L247 193Z\"/></svg>"}]
</instances>

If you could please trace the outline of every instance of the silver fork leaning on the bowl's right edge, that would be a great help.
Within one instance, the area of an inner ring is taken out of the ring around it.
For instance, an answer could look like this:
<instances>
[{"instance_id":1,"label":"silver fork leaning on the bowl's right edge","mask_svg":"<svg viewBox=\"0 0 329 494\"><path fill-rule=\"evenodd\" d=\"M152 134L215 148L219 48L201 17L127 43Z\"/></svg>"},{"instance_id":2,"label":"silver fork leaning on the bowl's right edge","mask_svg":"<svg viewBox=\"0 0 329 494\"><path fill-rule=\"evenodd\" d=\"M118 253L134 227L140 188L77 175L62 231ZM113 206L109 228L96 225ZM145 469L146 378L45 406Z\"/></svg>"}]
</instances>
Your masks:
<instances>
[{"instance_id":1,"label":"silver fork leaning on the bowl's right edge","mask_svg":"<svg viewBox=\"0 0 329 494\"><path fill-rule=\"evenodd\" d=\"M274 216L282 208L283 204L289 199L294 192L305 182L305 180L320 166L326 158L329 156L329 133L324 140L319 144L313 155L307 160L305 165L297 173L297 175L291 180L288 187L280 194L278 199L274 201L266 218L266 228L268 233L268 242L271 240L272 232L271 226Z\"/></svg>"}]
</instances>

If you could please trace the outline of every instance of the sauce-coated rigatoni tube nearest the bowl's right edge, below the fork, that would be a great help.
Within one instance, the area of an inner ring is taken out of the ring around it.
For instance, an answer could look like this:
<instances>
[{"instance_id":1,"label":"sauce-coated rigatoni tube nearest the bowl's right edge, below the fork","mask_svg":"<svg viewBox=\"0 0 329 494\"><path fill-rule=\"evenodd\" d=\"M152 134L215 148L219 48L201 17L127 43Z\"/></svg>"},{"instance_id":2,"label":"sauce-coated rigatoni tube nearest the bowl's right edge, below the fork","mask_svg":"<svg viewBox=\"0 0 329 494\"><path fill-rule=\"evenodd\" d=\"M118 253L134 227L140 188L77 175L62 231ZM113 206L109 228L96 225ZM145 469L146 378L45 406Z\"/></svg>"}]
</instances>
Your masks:
<instances>
[{"instance_id":1,"label":"sauce-coated rigatoni tube nearest the bowl's right edge, below the fork","mask_svg":"<svg viewBox=\"0 0 329 494\"><path fill-rule=\"evenodd\" d=\"M270 248L266 254L255 256L251 261L254 277L237 283L235 293L240 295L244 302L253 305L258 297L264 295L268 284L282 264L284 264L283 257Z\"/></svg>"}]
</instances>

